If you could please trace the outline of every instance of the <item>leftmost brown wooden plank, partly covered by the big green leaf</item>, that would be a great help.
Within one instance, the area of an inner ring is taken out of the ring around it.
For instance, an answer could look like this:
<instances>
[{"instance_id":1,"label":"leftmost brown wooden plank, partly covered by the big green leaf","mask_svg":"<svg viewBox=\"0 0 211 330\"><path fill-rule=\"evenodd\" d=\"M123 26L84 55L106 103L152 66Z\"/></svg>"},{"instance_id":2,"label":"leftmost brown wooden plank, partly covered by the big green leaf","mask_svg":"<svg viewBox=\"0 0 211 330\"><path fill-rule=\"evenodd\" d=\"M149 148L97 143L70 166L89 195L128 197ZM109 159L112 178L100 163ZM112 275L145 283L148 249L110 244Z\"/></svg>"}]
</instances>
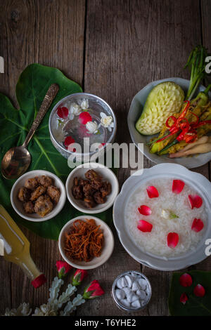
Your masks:
<instances>
[{"instance_id":1,"label":"leftmost brown wooden plank, partly covered by the big green leaf","mask_svg":"<svg viewBox=\"0 0 211 330\"><path fill-rule=\"evenodd\" d=\"M32 62L58 67L82 84L85 0L0 0L0 5L0 55L5 60L5 74L0 76L1 92L16 103L15 84ZM1 263L0 314L7 306L11 307L11 295L13 308L24 301L30 302L32 308L46 303L49 284L56 275L55 263L60 258L57 242L42 239L25 228L23 231L31 242L32 258L44 271L48 284L34 290L16 265Z\"/></svg>"}]
</instances>

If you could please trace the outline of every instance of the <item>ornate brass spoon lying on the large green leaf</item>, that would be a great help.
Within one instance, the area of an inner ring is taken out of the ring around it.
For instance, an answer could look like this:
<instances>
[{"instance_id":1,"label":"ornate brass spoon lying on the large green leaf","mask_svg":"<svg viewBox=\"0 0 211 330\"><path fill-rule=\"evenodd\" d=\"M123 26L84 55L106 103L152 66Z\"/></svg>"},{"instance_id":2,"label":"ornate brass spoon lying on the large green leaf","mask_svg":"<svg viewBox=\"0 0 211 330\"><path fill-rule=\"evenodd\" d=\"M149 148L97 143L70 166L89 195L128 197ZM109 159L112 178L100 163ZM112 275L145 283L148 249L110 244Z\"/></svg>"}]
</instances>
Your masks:
<instances>
[{"instance_id":1,"label":"ornate brass spoon lying on the large green leaf","mask_svg":"<svg viewBox=\"0 0 211 330\"><path fill-rule=\"evenodd\" d=\"M49 87L49 91L47 91L44 100L41 103L39 112L37 112L37 117L34 119L32 127L30 128L23 145L20 145L20 147L12 147L4 155L4 158L1 161L1 173L4 178L16 179L27 171L32 158L30 152L27 150L27 145L44 118L44 115L49 110L49 107L58 93L58 90L59 86L57 84L53 84Z\"/></svg>"}]
</instances>

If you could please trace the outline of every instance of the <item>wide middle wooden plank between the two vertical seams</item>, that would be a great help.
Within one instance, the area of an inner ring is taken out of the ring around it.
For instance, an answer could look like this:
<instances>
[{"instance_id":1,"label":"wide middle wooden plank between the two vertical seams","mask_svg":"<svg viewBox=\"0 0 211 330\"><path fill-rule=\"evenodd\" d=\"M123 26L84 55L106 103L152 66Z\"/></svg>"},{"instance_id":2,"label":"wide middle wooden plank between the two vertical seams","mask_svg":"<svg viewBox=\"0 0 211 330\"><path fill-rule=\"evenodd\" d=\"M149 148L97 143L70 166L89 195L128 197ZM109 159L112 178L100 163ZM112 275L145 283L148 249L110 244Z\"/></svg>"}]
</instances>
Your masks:
<instances>
[{"instance_id":1,"label":"wide middle wooden plank between the two vertical seams","mask_svg":"<svg viewBox=\"0 0 211 330\"><path fill-rule=\"evenodd\" d=\"M193 46L200 44L199 2L88 0L86 36L85 91L101 96L113 107L118 122L116 141L130 143L126 118L133 96L153 80L189 77L182 68ZM145 159L144 166L152 163ZM121 183L127 176L129 170L120 169ZM115 263L120 255L125 259L121 267ZM117 267L122 272L137 265L124 251L120 255L115 251L108 262L109 272L100 271L101 280L109 282L107 308L94 301L81 308L79 315L122 315L110 298L112 279ZM139 315L167 315L171 273L141 269L153 283L153 298ZM94 274L98 275L98 270Z\"/></svg>"}]
</instances>

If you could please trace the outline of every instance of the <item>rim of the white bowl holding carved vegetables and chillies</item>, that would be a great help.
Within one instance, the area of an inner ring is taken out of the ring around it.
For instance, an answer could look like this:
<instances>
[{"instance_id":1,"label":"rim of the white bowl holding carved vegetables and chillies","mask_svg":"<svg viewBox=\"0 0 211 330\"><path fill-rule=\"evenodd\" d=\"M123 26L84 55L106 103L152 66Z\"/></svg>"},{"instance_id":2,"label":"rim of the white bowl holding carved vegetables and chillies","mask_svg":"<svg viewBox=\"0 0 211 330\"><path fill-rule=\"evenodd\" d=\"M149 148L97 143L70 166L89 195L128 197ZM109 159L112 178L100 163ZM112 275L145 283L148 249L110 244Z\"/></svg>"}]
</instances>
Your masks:
<instances>
[{"instance_id":1,"label":"rim of the white bowl holding carved vegetables and chillies","mask_svg":"<svg viewBox=\"0 0 211 330\"><path fill-rule=\"evenodd\" d=\"M150 161L153 162L153 164L164 164L164 163L167 163L168 162L168 159L166 159L165 156L162 156L162 157L159 157L159 159L154 159L153 156L151 156L151 154L149 152L146 152L146 145L143 145L143 150L141 148L138 147L138 143L136 143L136 139L134 138L134 133L133 133L133 126L134 126L134 123L132 123L132 120L130 119L131 117L131 114L132 114L132 111L133 111L133 103L134 103L134 99L137 98L139 96L139 93L141 91L144 91L146 90L149 86L152 86L152 88L154 86L157 86L158 84L162 83L162 82L165 82L165 81L173 81L175 82L176 84L179 84L178 81L183 81L184 83L188 84L190 82L189 79L184 79L184 78L180 78L180 77L170 77L170 78L165 78L165 79L158 79L158 80L155 80L155 81L151 81L150 83L148 83L146 86L144 86L143 88L141 88L140 91L138 91L134 97L132 98L132 102L130 104L130 107L129 107L129 112L127 114L127 126L129 128L129 134L130 134L130 137L132 139L132 142L134 143L134 145L136 145L136 147L139 149L139 151L141 153L143 153L143 155L149 159ZM200 84L198 86L198 91L203 91L205 90L205 86L203 84ZM211 92L208 93L208 95L210 95L211 97ZM136 129L136 128L135 128ZM140 133L139 133L140 134ZM140 134L141 135L141 134ZM153 135L152 135L153 136ZM151 137L152 137L151 136ZM206 152L205 154L207 154L207 157L208 157L208 154L210 154L210 160L211 160L211 152ZM153 155L153 154L152 154ZM196 157L195 155L193 155L193 157ZM181 157L181 158L176 158L176 159L187 159L186 157ZM199 159L199 158L198 158ZM198 160L197 159L197 160ZM201 160L200 158L200 164L197 164L197 165L193 165L193 161L188 161L188 165L184 164L184 165L181 165L181 166L186 166L188 169L195 169L199 166L203 166L205 164L207 164L210 160L207 160L205 159L204 161ZM172 161L172 164L180 164L180 161Z\"/></svg>"}]
</instances>

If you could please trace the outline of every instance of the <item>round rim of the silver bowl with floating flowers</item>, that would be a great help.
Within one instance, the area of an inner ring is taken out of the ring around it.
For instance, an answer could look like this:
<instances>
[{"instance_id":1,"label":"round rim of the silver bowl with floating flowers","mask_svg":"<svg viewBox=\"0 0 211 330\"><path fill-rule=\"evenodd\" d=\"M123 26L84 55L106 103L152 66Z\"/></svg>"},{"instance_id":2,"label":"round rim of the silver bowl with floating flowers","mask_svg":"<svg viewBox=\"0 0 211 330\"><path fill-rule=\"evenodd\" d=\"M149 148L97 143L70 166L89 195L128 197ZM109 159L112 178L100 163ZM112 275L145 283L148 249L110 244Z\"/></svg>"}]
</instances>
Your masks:
<instances>
[{"instance_id":1,"label":"round rim of the silver bowl with floating flowers","mask_svg":"<svg viewBox=\"0 0 211 330\"><path fill-rule=\"evenodd\" d=\"M98 100L101 100L107 107L108 109L110 110L110 112L112 113L113 115L113 122L114 122L114 127L113 127L113 131L112 131L112 134L110 136L110 138L108 139L108 141L105 143L105 145L103 145L103 147L101 147L101 150L104 150L106 145L108 143L111 143L113 141L113 138L115 137L115 134L117 132L117 119L116 119L116 116L115 116L115 112L113 111L112 107L110 107L110 105L105 101L103 100L103 98L100 98L99 96L97 95L94 95L94 94L91 94L91 93L83 93L83 92L79 92L79 93L73 93L73 94L69 94L67 96L65 96L64 98L61 98L57 103L56 105L54 105L53 109L51 110L51 114L50 114L50 117L49 117L49 133L50 133L50 137L52 138L53 140L53 143L56 144L57 147L59 147L61 150L63 150L64 152L68 152L68 154L75 154L75 156L79 156L79 157L86 157L86 156L89 156L91 154L94 154L95 152L85 152L85 153L80 153L80 152L70 152L68 151L67 149L65 149L65 147L62 147L61 145L58 144L58 142L56 141L56 138L54 138L53 136L53 133L51 131L51 119L53 117L53 113L54 113L54 110L56 109L56 107L58 107L58 103L60 102L63 102L65 101L67 98L70 98L70 97L75 97L75 96L78 96L78 95L87 95L87 96L91 96L91 97L94 97L94 98L97 98Z\"/></svg>"}]
</instances>

